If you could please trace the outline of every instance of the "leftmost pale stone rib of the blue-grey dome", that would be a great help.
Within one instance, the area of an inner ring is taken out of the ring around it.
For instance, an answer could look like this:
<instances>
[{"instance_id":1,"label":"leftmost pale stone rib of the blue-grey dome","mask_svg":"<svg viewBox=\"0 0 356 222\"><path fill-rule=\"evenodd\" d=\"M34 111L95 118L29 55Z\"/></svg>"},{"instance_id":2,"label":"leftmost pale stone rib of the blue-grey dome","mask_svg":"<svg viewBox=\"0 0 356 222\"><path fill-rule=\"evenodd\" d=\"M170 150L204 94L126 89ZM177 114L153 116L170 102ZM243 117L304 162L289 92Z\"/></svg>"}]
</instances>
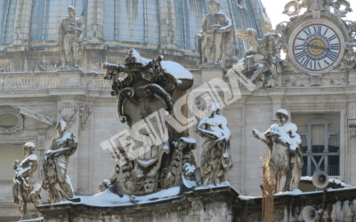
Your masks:
<instances>
[{"instance_id":1,"label":"leftmost pale stone rib of the blue-grey dome","mask_svg":"<svg viewBox=\"0 0 356 222\"><path fill-rule=\"evenodd\" d=\"M14 35L12 44L27 44L30 36L30 24L33 0L19 0L17 3Z\"/></svg>"}]
</instances>

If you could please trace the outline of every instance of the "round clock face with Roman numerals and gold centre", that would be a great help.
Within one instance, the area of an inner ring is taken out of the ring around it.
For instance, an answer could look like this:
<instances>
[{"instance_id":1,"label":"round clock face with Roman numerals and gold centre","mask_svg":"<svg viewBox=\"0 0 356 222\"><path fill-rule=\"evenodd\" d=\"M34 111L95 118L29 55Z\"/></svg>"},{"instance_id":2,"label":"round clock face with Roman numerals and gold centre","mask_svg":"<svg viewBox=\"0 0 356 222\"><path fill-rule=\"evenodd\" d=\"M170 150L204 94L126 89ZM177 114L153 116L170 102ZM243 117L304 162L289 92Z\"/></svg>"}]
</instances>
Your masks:
<instances>
[{"instance_id":1,"label":"round clock face with Roman numerals and gold centre","mask_svg":"<svg viewBox=\"0 0 356 222\"><path fill-rule=\"evenodd\" d=\"M344 35L328 20L307 20L299 24L288 41L290 59L310 74L326 73L344 57Z\"/></svg>"}]
</instances>

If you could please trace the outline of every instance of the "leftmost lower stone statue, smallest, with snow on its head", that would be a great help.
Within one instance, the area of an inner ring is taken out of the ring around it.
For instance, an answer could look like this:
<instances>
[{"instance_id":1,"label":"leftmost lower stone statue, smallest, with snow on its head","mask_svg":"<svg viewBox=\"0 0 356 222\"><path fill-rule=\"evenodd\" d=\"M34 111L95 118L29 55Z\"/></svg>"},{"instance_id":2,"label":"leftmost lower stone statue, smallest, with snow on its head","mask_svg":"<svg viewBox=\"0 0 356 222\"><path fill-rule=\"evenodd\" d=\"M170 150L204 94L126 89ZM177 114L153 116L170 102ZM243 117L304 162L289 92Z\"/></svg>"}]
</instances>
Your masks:
<instances>
[{"instance_id":1,"label":"leftmost lower stone statue, smallest, with snow on its head","mask_svg":"<svg viewBox=\"0 0 356 222\"><path fill-rule=\"evenodd\" d=\"M16 160L13 169L16 170L13 178L12 197L22 214L22 219L41 217L36 209L41 203L41 185L34 184L37 170L37 156L35 155L35 144L27 142L23 147L25 159L20 163Z\"/></svg>"}]
</instances>

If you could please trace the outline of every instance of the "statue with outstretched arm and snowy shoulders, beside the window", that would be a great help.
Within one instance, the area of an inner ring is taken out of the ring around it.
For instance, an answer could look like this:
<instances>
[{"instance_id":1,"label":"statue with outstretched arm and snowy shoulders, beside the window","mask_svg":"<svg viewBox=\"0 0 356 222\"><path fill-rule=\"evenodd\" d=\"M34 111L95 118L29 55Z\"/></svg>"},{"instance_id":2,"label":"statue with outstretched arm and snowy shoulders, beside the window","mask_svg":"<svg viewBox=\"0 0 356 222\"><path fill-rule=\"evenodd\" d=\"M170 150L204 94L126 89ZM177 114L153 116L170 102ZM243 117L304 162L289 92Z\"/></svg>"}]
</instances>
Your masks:
<instances>
[{"instance_id":1,"label":"statue with outstretched arm and snowy shoulders, beside the window","mask_svg":"<svg viewBox=\"0 0 356 222\"><path fill-rule=\"evenodd\" d=\"M252 131L256 139L263 141L270 149L270 156L264 165L267 168L267 178L275 192L291 191L298 188L302 177L303 154L302 140L297 133L295 123L288 122L289 114L285 109L276 113L278 124L261 133Z\"/></svg>"}]
</instances>

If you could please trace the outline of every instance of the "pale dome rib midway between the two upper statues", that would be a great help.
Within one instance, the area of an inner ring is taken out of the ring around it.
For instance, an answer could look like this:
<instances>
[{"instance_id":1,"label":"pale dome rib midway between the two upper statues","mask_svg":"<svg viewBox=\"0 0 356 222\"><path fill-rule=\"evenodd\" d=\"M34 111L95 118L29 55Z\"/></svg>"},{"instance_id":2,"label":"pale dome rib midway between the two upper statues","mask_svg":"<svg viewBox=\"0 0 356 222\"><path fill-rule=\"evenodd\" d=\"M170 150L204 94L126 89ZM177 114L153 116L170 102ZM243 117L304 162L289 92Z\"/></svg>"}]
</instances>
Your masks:
<instances>
[{"instance_id":1,"label":"pale dome rib midway between the two upper statues","mask_svg":"<svg viewBox=\"0 0 356 222\"><path fill-rule=\"evenodd\" d=\"M175 7L173 0L158 0L159 28L161 49L169 49L174 45Z\"/></svg>"}]
</instances>

